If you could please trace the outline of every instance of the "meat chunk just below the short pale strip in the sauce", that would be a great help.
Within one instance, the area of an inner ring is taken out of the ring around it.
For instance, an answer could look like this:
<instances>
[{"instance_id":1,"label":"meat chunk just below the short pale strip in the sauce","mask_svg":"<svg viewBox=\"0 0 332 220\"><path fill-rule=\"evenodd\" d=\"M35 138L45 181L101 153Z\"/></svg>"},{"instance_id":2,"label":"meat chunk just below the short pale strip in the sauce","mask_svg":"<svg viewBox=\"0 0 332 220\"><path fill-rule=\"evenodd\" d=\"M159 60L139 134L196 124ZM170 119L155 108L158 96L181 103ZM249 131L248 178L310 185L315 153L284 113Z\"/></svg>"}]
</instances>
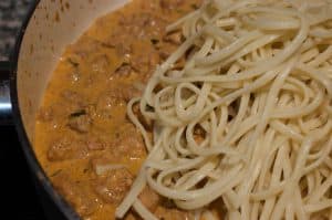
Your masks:
<instances>
[{"instance_id":1,"label":"meat chunk just below the short pale strip in the sauce","mask_svg":"<svg viewBox=\"0 0 332 220\"><path fill-rule=\"evenodd\" d=\"M95 191L103 201L118 205L133 184L133 175L126 168L107 171L95 182Z\"/></svg>"}]
</instances>

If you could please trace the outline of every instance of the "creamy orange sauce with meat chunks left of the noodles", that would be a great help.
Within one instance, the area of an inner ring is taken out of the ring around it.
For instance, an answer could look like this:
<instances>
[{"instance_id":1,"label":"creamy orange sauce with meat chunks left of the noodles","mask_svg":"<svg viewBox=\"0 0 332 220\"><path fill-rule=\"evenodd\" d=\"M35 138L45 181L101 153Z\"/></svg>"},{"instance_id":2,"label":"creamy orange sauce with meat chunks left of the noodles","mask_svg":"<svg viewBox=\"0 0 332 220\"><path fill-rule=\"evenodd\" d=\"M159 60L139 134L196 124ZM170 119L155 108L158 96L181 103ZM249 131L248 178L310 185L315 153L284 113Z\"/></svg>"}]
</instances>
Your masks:
<instances>
[{"instance_id":1,"label":"creamy orange sauce with meat chunks left of the noodles","mask_svg":"<svg viewBox=\"0 0 332 220\"><path fill-rule=\"evenodd\" d=\"M100 178L110 178L95 174L94 161L103 158L124 165L133 178L137 174L146 153L126 118L126 103L180 43L165 27L199 2L134 0L96 20L62 55L37 121L34 150L55 188L84 219L114 219L118 201L112 196L105 201L94 189Z\"/></svg>"}]
</instances>

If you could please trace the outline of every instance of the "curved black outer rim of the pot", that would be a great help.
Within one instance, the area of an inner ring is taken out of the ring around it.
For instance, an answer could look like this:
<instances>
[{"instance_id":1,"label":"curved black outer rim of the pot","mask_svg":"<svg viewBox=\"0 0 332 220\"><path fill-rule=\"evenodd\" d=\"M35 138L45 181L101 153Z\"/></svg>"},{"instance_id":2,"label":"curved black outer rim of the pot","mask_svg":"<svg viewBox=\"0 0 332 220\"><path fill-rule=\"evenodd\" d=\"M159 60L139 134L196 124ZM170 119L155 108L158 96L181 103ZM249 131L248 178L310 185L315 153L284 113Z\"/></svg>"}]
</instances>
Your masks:
<instances>
[{"instance_id":1,"label":"curved black outer rim of the pot","mask_svg":"<svg viewBox=\"0 0 332 220\"><path fill-rule=\"evenodd\" d=\"M64 200L64 198L58 193L58 191L53 188L49 177L42 169L41 164L37 159L34 151L32 149L32 145L29 142L28 134L23 126L22 115L19 106L19 96L18 96L18 86L17 86L17 75L18 75L18 63L21 51L21 44L24 38L25 30L30 23L31 18L33 17L35 9L40 0L33 1L31 8L29 9L28 15L25 17L23 24L17 35L17 43L11 54L11 73L10 73L10 96L11 96L11 105L12 105L12 119L15 125L15 129L19 136L19 140L24 153L25 159L30 169L38 181L43 187L44 191L54 202L56 208L64 214L66 219L79 220L79 214L74 211L74 209Z\"/></svg>"}]
</instances>

